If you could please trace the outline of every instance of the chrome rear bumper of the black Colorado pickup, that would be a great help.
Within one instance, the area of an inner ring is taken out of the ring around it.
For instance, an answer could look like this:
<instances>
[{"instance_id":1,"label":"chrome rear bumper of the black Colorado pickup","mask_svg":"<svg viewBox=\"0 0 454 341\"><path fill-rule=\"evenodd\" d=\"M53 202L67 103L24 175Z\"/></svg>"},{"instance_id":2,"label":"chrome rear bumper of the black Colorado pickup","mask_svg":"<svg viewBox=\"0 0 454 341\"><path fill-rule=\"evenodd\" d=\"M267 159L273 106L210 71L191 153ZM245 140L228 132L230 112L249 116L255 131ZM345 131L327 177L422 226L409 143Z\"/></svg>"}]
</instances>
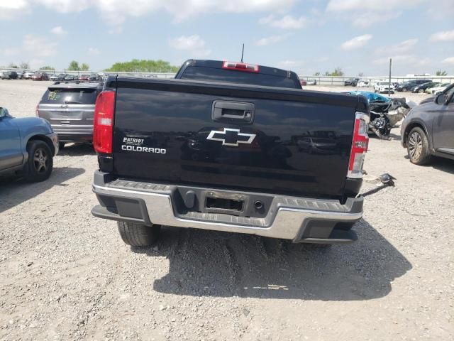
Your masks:
<instances>
[{"instance_id":1,"label":"chrome rear bumper of the black Colorado pickup","mask_svg":"<svg viewBox=\"0 0 454 341\"><path fill-rule=\"evenodd\" d=\"M101 205L94 207L92 213L110 220L257 234L294 242L336 243L353 242L355 232L336 227L353 224L362 217L362 197L349 198L341 205L337 200L271 195L271 205L264 217L178 212L175 185L128 180L104 183L100 180L103 173L97 173L93 191Z\"/></svg>"}]
</instances>

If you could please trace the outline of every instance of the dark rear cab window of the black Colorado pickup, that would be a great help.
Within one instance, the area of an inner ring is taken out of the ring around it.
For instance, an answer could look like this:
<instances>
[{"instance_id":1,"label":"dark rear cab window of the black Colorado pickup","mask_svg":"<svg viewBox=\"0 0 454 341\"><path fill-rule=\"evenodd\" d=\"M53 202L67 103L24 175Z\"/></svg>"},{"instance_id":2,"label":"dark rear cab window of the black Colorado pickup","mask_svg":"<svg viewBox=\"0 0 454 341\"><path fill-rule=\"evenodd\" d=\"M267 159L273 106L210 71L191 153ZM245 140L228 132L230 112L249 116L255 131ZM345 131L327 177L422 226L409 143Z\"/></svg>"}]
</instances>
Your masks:
<instances>
[{"instance_id":1,"label":"dark rear cab window of the black Colorado pickup","mask_svg":"<svg viewBox=\"0 0 454 341\"><path fill-rule=\"evenodd\" d=\"M206 82L228 82L265 87L289 87L301 89L297 80L287 77L266 75L264 73L223 70L215 67L189 66L184 70L182 80L204 80Z\"/></svg>"}]
</instances>

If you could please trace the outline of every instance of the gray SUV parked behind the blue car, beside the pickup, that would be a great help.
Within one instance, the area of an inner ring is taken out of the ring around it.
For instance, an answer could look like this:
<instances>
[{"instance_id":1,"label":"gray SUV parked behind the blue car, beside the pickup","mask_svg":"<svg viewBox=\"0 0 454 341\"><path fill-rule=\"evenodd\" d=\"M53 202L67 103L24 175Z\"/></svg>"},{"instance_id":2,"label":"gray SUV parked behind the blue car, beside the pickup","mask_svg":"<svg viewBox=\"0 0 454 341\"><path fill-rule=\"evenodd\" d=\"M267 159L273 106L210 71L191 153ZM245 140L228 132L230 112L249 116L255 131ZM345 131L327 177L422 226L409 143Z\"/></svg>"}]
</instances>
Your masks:
<instances>
[{"instance_id":1,"label":"gray SUV parked behind the blue car, beside the pickup","mask_svg":"<svg viewBox=\"0 0 454 341\"><path fill-rule=\"evenodd\" d=\"M91 143L99 82L56 82L48 87L36 108L36 116L47 119L60 140L66 143Z\"/></svg>"}]
</instances>

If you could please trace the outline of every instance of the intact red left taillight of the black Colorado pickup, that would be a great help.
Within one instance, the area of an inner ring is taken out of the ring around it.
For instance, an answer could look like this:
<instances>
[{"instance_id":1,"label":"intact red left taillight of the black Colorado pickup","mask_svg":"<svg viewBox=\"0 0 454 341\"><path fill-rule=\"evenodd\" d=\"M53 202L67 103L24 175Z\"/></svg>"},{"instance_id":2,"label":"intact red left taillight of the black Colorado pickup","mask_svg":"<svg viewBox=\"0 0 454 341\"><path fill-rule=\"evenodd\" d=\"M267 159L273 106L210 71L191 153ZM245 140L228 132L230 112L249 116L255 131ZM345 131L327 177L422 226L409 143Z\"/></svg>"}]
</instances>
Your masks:
<instances>
[{"instance_id":1,"label":"intact red left taillight of the black Colorado pickup","mask_svg":"<svg viewBox=\"0 0 454 341\"><path fill-rule=\"evenodd\" d=\"M94 106L93 146L97 153L112 153L115 92L101 92Z\"/></svg>"}]
</instances>

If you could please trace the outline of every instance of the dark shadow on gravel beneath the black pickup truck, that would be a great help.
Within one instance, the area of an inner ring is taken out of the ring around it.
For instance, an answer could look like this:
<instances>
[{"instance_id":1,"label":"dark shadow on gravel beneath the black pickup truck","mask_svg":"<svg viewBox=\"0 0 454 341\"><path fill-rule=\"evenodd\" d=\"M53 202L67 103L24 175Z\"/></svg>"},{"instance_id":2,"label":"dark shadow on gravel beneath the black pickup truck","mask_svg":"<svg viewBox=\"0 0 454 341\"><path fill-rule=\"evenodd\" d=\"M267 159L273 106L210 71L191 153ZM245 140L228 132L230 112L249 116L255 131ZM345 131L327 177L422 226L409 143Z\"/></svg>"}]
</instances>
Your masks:
<instances>
[{"instance_id":1,"label":"dark shadow on gravel beneath the black pickup truck","mask_svg":"<svg viewBox=\"0 0 454 341\"><path fill-rule=\"evenodd\" d=\"M276 239L167 228L153 249L166 256L169 273L155 291L189 296L360 301L387 296L409 261L365 220L358 242L316 249Z\"/></svg>"}]
</instances>

